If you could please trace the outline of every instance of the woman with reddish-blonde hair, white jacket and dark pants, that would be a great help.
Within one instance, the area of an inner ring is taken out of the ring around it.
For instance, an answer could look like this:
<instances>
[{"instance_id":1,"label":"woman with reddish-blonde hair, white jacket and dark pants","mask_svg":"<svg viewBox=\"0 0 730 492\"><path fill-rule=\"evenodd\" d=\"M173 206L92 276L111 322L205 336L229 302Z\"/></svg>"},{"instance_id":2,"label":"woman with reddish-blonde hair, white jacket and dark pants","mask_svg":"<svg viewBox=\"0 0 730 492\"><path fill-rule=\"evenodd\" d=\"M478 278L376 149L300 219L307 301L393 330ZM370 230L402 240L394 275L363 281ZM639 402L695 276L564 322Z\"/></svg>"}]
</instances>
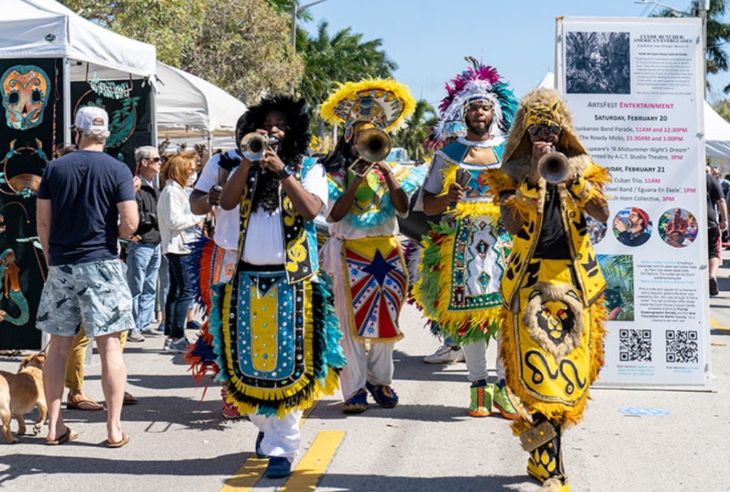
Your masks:
<instances>
[{"instance_id":1,"label":"woman with reddish-blonde hair, white jacket and dark pants","mask_svg":"<svg viewBox=\"0 0 730 492\"><path fill-rule=\"evenodd\" d=\"M196 179L197 155L182 152L173 155L162 169L165 187L157 204L157 216L162 239L162 254L168 262L169 291L165 301L165 350L185 352L185 322L193 299L193 282L186 265L190 250L188 244L196 237L195 226L205 215L190 210L188 192Z\"/></svg>"}]
</instances>

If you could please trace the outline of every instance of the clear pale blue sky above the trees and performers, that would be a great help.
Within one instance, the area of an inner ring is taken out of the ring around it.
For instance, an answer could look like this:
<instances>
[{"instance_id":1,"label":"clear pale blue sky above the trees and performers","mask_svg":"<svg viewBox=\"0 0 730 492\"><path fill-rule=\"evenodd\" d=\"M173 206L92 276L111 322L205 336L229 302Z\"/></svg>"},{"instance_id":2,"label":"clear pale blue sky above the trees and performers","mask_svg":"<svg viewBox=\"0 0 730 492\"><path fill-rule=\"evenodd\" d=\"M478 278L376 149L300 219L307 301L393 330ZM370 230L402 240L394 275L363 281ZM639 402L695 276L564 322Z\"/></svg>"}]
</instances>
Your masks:
<instances>
[{"instance_id":1,"label":"clear pale blue sky above the trees and performers","mask_svg":"<svg viewBox=\"0 0 730 492\"><path fill-rule=\"evenodd\" d=\"M661 3L683 10L690 0ZM445 96L446 80L466 68L465 55L495 66L520 97L554 69L558 16L648 17L654 9L661 7L633 0L328 0L307 9L313 20L302 26L315 32L327 20L330 36L351 27L364 40L382 39L399 65L396 80L434 104ZM708 99L722 98L728 83L729 72L710 77Z\"/></svg>"}]
</instances>

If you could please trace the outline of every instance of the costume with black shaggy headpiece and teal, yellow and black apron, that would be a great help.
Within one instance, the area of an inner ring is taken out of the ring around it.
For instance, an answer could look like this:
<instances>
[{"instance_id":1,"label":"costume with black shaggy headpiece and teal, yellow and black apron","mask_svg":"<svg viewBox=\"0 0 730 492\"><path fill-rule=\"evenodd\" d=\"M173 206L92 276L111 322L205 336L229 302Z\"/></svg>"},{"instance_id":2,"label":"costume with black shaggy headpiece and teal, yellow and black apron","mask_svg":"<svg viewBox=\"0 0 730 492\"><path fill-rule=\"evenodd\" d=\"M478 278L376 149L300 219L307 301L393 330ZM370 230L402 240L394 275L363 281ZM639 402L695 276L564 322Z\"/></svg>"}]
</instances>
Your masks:
<instances>
[{"instance_id":1,"label":"costume with black shaggy headpiece and teal, yellow and black apron","mask_svg":"<svg viewBox=\"0 0 730 492\"><path fill-rule=\"evenodd\" d=\"M272 97L250 107L237 125L237 141L264 128L264 118L274 111L284 113L287 131L293 135L281 142L280 158L305 191L321 194L320 199L326 202L322 165L303 157L310 138L303 100ZM255 237L249 237L252 228ZM219 232L223 234L216 234ZM279 178L258 164L250 165L235 236L226 238L226 244L238 245L235 272L226 272L218 284L212 278L219 272L223 257L217 258L216 252L223 253L210 242L196 247L201 298L210 307L210 320L208 333L204 332L188 356L194 374L216 374L215 379L226 385L228 403L241 414L253 414L252 420L265 431L269 424L264 420L283 421L291 413L301 415L299 412L321 394L334 393L345 358L339 347L341 335L331 293L316 276L314 223L297 212ZM283 251L271 249L270 245L277 243L283 245ZM296 423L290 424L285 431L298 439ZM264 437L264 449L277 447L267 440L279 432L271 434ZM293 447L296 450L298 440ZM291 459L291 454L283 456Z\"/></svg>"}]
</instances>

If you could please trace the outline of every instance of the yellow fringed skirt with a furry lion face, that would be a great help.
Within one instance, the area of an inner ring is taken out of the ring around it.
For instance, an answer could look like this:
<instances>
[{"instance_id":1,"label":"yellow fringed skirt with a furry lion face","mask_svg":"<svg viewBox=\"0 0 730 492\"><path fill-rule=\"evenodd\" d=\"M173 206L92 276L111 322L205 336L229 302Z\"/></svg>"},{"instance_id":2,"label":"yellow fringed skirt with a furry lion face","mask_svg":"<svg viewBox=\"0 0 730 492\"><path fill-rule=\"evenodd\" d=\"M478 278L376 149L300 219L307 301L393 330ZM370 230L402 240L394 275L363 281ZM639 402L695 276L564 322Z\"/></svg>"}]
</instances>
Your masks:
<instances>
[{"instance_id":1,"label":"yellow fringed skirt with a furry lion face","mask_svg":"<svg viewBox=\"0 0 730 492\"><path fill-rule=\"evenodd\" d=\"M604 363L607 311L583 305L568 260L531 260L512 310L503 310L500 356L507 384L530 413L563 425L583 417Z\"/></svg>"}]
</instances>

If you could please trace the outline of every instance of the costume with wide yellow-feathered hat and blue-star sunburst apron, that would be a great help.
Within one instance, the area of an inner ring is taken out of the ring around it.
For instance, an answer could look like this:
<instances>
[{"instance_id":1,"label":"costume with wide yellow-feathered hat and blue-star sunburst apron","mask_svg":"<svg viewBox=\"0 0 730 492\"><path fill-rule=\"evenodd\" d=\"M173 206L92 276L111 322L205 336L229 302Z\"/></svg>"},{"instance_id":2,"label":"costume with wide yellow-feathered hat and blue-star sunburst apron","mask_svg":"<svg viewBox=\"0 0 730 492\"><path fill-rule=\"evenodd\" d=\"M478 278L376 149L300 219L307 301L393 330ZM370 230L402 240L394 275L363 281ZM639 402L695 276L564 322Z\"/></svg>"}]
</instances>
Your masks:
<instances>
[{"instance_id":1,"label":"costume with wide yellow-feathered hat and blue-star sunburst apron","mask_svg":"<svg viewBox=\"0 0 730 492\"><path fill-rule=\"evenodd\" d=\"M395 130L414 108L408 88L394 80L349 82L321 107L323 118L345 123L337 148L324 159L330 239L323 249L323 266L332 278L344 334L347 367L342 371L342 410L347 413L366 410L366 391L383 407L394 407L398 401L390 387L393 345L403 337L399 315L408 292L408 274L396 238L396 214L407 215L409 197L426 174L419 167L383 163L363 175L350 166L357 158L355 146L364 145L362 131ZM406 210L398 212L393 199L405 204ZM333 218L337 207L342 207L344 215Z\"/></svg>"}]
</instances>

